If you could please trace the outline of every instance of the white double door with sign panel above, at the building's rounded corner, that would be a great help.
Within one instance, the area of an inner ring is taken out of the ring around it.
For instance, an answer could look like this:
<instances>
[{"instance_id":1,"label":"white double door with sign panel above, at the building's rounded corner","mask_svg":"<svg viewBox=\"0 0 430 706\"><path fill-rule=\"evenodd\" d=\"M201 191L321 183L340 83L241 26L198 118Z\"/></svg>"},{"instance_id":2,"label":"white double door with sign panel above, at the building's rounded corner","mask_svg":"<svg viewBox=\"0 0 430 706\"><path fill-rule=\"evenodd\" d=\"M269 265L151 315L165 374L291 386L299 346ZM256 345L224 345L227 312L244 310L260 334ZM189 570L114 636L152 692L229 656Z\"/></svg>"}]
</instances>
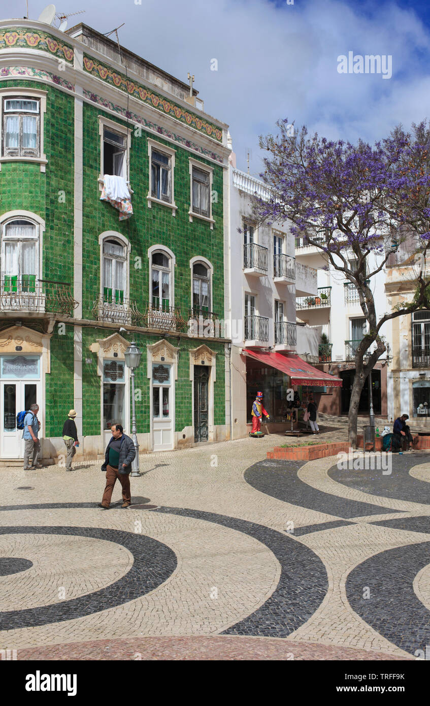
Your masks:
<instances>
[{"instance_id":1,"label":"white double door with sign panel above, at the building's rounded corner","mask_svg":"<svg viewBox=\"0 0 430 706\"><path fill-rule=\"evenodd\" d=\"M27 361L27 374L35 375L39 370L39 359L16 356L1 359L2 378L0 380L0 457L4 459L23 458L24 440L23 430L16 428L16 415L18 412L27 411L36 402L41 407L41 384L35 379L17 380L13 378L13 368L19 374L19 368L25 368ZM36 362L37 361L37 362ZM25 370L24 373L25 374ZM4 379L6 376L6 379ZM38 414L41 421L41 414ZM42 429L39 437L42 436Z\"/></svg>"}]
</instances>

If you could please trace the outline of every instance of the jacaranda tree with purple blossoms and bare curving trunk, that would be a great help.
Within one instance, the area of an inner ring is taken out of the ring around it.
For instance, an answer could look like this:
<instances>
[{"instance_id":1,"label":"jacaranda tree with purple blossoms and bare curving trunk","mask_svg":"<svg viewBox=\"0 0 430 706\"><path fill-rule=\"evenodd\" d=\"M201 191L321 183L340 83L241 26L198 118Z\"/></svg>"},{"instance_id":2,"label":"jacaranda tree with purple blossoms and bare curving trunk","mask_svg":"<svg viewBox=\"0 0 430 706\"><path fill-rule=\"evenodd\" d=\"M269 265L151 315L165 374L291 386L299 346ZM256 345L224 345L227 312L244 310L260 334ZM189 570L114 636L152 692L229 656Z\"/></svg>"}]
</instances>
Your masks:
<instances>
[{"instance_id":1,"label":"jacaranda tree with purple blossoms and bare curving trunk","mask_svg":"<svg viewBox=\"0 0 430 706\"><path fill-rule=\"evenodd\" d=\"M386 351L381 327L426 304L424 257L430 247L430 128L396 127L373 146L330 141L306 127L277 123L279 133L260 138L269 154L261 178L271 197L253 197L257 222L289 222L291 232L324 253L327 266L357 288L368 331L355 351L349 439L357 443L359 398L378 358ZM372 280L408 239L419 265L416 294L393 311L376 311ZM369 257L371 256L372 257ZM376 265L375 265L376 263Z\"/></svg>"}]
</instances>

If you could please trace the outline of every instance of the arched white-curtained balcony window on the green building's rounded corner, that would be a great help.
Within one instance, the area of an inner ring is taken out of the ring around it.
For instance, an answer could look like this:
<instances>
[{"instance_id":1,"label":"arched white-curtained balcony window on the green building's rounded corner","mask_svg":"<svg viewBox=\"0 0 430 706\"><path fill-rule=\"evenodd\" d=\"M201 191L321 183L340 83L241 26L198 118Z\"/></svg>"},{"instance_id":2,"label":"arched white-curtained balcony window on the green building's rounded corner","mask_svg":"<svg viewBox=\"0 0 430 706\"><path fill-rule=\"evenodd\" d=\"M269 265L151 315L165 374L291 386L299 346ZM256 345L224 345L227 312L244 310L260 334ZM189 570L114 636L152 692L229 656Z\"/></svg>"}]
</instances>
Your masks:
<instances>
[{"instance_id":1,"label":"arched white-curtained balcony window on the green building's rounded corner","mask_svg":"<svg viewBox=\"0 0 430 706\"><path fill-rule=\"evenodd\" d=\"M37 227L16 219L6 223L2 234L1 283L4 292L35 292L39 275Z\"/></svg>"}]
</instances>

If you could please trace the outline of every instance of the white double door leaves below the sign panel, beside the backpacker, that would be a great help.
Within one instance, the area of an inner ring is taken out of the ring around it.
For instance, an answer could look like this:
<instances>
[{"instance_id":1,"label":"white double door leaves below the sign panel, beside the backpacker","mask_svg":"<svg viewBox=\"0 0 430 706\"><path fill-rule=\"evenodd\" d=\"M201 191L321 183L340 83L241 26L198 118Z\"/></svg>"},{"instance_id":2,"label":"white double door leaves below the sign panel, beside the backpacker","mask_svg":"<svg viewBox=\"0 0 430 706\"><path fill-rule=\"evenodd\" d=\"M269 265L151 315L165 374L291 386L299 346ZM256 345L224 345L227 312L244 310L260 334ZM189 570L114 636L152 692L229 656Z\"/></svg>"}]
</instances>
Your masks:
<instances>
[{"instance_id":1,"label":"white double door leaves below the sign panel, beside the backpacker","mask_svg":"<svg viewBox=\"0 0 430 706\"><path fill-rule=\"evenodd\" d=\"M36 402L40 405L37 382L5 380L0 383L0 456L1 458L23 458L23 430L16 428L16 415L27 411ZM38 415L40 421L40 415ZM39 432L40 436L40 432Z\"/></svg>"}]
</instances>

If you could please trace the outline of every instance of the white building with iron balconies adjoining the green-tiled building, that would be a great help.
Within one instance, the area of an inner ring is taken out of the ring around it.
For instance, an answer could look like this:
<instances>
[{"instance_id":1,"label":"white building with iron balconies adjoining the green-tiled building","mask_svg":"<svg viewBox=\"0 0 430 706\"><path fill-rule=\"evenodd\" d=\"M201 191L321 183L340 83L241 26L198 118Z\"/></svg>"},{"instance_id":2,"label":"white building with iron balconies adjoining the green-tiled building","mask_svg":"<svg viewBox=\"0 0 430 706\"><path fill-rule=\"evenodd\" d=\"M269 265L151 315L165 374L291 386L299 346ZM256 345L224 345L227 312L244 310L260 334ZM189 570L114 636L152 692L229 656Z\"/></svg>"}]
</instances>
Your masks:
<instances>
[{"instance_id":1,"label":"white building with iron balconies adjoining the green-tiled building","mask_svg":"<svg viewBox=\"0 0 430 706\"><path fill-rule=\"evenodd\" d=\"M251 409L262 390L270 414L269 428L285 429L289 378L252 352L306 354L318 360L318 332L296 322L296 296L315 296L316 270L297 263L294 237L287 224L257 227L251 196L267 195L263 181L229 167L228 227L225 229L226 321L232 333L232 438L251 431Z\"/></svg>"}]
</instances>

